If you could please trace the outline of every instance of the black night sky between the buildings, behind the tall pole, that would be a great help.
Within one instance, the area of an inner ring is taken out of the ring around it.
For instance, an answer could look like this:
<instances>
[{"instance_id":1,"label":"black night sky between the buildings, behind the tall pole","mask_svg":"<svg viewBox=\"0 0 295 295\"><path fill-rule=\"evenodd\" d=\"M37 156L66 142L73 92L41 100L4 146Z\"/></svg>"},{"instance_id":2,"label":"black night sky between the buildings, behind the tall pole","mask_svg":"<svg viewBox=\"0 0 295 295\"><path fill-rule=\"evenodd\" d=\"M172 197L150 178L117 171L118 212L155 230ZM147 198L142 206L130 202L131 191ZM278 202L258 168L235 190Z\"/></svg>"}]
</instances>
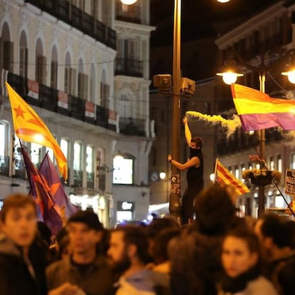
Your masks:
<instances>
[{"instance_id":1,"label":"black night sky between the buildings, behind the tall pole","mask_svg":"<svg viewBox=\"0 0 295 295\"><path fill-rule=\"evenodd\" d=\"M195 81L214 76L217 71L214 40L219 33L242 24L278 1L231 0L220 4L216 0L182 0L182 74ZM172 72L173 9L174 0L150 0L150 21L157 28L150 39L151 77ZM192 41L199 41L200 45L193 47Z\"/></svg>"}]
</instances>

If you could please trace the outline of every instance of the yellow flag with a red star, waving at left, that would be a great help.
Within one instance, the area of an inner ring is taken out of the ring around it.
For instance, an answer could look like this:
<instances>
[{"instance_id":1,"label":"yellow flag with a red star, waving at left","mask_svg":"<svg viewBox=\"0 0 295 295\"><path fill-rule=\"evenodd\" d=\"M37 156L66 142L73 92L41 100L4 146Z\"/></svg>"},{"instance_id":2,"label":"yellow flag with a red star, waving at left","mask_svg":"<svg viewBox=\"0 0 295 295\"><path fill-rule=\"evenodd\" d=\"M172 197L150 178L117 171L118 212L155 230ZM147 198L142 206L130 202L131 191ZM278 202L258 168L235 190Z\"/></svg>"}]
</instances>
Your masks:
<instances>
[{"instance_id":1,"label":"yellow flag with a red star, waving at left","mask_svg":"<svg viewBox=\"0 0 295 295\"><path fill-rule=\"evenodd\" d=\"M66 180L68 178L66 157L63 155L58 143L56 143L55 138L53 138L53 135L33 108L7 82L6 88L11 103L11 113L16 135L29 143L38 143L51 148L56 157L58 170Z\"/></svg>"}]
</instances>

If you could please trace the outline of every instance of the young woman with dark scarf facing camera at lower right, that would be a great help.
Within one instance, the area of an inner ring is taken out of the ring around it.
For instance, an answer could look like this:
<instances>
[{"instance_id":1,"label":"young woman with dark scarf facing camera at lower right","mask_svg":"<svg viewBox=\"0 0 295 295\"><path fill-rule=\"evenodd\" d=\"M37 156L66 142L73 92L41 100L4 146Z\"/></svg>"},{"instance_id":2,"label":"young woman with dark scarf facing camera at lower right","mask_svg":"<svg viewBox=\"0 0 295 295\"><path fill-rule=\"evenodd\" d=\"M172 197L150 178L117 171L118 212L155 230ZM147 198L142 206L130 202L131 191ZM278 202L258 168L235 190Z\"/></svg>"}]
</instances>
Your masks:
<instances>
[{"instance_id":1,"label":"young woman with dark scarf facing camera at lower right","mask_svg":"<svg viewBox=\"0 0 295 295\"><path fill-rule=\"evenodd\" d=\"M249 227L229 231L222 243L224 275L219 295L276 295L271 282L263 276L262 251L259 239Z\"/></svg>"}]
</instances>

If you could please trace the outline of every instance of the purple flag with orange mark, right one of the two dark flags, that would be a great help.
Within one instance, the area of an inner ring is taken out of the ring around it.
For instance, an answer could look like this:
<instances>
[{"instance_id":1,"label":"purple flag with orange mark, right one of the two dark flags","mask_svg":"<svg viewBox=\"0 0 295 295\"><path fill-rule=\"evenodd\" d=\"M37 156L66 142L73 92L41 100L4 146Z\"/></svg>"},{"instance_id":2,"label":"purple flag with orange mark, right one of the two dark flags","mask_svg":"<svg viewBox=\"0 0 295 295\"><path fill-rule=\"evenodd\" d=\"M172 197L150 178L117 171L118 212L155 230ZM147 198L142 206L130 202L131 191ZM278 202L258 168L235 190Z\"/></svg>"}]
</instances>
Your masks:
<instances>
[{"instance_id":1,"label":"purple flag with orange mark, right one of the two dark flags","mask_svg":"<svg viewBox=\"0 0 295 295\"><path fill-rule=\"evenodd\" d=\"M73 205L70 200L68 200L68 196L66 195L66 192L63 188L61 179L56 172L56 167L54 167L48 152L46 152L46 155L41 162L39 172L41 175L43 175L43 177L45 177L48 187L51 191L51 195L53 196L53 199L55 200L58 207L65 207L66 217L70 217L72 214L76 213L78 208Z\"/></svg>"}]
</instances>

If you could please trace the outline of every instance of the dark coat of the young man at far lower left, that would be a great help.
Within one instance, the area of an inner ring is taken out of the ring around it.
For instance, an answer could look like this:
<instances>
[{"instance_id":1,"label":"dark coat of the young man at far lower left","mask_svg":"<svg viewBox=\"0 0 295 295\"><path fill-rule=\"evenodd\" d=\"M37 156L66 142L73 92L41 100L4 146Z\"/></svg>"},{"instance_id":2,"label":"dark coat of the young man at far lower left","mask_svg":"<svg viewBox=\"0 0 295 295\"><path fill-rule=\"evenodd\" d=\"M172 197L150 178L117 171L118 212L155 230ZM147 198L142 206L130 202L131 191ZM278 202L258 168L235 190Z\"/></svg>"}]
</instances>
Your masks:
<instances>
[{"instance_id":1,"label":"dark coat of the young man at far lower left","mask_svg":"<svg viewBox=\"0 0 295 295\"><path fill-rule=\"evenodd\" d=\"M38 251L34 251L39 257ZM39 257L40 258L40 257ZM41 263L39 261L39 263ZM45 268L33 265L30 272L21 250L6 237L0 239L0 294L45 295ZM43 281L42 278L43 277Z\"/></svg>"}]
</instances>

